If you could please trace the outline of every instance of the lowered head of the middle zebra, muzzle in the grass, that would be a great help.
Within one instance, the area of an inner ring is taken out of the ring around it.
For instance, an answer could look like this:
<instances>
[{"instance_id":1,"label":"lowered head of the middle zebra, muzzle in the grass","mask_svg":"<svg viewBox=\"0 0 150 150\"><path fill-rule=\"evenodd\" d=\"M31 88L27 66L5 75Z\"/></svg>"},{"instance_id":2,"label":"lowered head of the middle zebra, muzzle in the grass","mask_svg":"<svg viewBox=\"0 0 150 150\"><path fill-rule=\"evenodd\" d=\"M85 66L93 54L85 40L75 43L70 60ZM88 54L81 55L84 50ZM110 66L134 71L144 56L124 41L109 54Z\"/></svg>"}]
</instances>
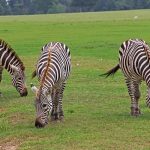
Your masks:
<instances>
[{"instance_id":1,"label":"lowered head of the middle zebra, muzzle in the grass","mask_svg":"<svg viewBox=\"0 0 150 150\"><path fill-rule=\"evenodd\" d=\"M31 84L31 90L36 94L35 109L36 119L35 126L37 128L44 127L48 123L48 115L52 110L52 99L50 91L45 89L37 89Z\"/></svg>"}]
</instances>

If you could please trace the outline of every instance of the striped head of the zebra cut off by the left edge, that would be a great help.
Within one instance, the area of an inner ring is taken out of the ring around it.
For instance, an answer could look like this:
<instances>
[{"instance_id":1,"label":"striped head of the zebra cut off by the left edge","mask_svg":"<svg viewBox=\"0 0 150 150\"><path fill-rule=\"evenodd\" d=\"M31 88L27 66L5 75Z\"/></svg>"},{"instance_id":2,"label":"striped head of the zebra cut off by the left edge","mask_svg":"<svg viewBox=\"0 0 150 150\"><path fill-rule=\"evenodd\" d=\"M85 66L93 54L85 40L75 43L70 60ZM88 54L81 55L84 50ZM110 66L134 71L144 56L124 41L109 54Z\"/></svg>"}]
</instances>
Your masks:
<instances>
[{"instance_id":1,"label":"striped head of the zebra cut off by the left edge","mask_svg":"<svg viewBox=\"0 0 150 150\"><path fill-rule=\"evenodd\" d=\"M12 74L12 84L16 88L16 90L20 93L20 96L27 96L28 91L25 85L25 74L22 69L11 65L11 69L13 71Z\"/></svg>"}]
</instances>

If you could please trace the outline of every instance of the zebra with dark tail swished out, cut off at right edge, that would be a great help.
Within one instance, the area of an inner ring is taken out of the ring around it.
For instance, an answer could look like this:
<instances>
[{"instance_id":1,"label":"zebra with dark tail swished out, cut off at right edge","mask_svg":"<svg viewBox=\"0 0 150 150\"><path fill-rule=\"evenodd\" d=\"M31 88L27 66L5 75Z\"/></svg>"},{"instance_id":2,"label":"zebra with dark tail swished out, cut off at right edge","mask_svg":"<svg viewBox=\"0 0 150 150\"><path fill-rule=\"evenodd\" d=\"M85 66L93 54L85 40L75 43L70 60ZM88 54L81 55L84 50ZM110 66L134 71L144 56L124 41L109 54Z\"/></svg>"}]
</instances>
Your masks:
<instances>
[{"instance_id":1,"label":"zebra with dark tail swished out, cut off at right edge","mask_svg":"<svg viewBox=\"0 0 150 150\"><path fill-rule=\"evenodd\" d=\"M138 116L141 114L138 101L142 80L145 80L148 86L146 104L150 107L150 48L144 40L129 39L123 42L119 49L119 64L104 75L113 75L118 69L121 69L125 76L131 97L131 115Z\"/></svg>"}]
</instances>

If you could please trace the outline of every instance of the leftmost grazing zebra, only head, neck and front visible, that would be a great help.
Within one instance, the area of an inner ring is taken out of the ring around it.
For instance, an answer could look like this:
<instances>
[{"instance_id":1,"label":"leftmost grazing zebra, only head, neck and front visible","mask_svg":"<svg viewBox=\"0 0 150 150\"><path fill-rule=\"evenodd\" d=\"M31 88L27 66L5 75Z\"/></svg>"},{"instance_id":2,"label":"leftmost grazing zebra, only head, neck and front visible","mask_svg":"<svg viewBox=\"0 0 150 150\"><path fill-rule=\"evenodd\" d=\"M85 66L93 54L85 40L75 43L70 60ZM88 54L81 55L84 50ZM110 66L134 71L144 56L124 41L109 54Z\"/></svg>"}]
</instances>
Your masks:
<instances>
[{"instance_id":1,"label":"leftmost grazing zebra, only head, neck and front visible","mask_svg":"<svg viewBox=\"0 0 150 150\"><path fill-rule=\"evenodd\" d=\"M25 67L15 51L2 39L0 39L0 82L5 68L12 76L12 84L20 93L20 96L28 94L25 85Z\"/></svg>"}]
</instances>

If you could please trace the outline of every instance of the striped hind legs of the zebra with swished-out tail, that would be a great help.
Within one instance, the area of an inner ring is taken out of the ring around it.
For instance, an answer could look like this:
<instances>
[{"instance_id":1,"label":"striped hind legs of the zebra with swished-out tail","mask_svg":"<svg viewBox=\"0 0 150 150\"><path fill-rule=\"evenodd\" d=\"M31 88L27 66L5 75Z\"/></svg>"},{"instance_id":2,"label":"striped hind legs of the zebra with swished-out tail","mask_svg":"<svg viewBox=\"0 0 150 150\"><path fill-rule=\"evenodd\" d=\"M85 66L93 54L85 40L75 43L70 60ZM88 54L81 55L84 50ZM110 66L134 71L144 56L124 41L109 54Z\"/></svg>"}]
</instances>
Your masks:
<instances>
[{"instance_id":1,"label":"striped hind legs of the zebra with swished-out tail","mask_svg":"<svg viewBox=\"0 0 150 150\"><path fill-rule=\"evenodd\" d=\"M138 101L140 98L139 83L140 82L138 81L132 81L131 79L126 79L128 93L131 97L131 115L132 116L139 116L141 114L141 111L138 105Z\"/></svg>"}]
</instances>

